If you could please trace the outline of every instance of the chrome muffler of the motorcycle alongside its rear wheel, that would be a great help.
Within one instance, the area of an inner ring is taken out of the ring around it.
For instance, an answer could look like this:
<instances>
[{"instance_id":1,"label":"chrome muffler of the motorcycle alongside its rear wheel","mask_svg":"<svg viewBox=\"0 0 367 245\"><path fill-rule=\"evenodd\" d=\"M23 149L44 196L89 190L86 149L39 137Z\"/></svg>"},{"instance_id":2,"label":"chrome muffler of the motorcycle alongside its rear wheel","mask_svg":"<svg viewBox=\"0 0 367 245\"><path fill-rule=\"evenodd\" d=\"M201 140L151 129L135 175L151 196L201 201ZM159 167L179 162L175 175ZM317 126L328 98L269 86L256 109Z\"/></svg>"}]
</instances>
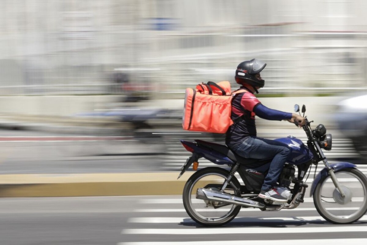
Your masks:
<instances>
[{"instance_id":1,"label":"chrome muffler of the motorcycle alongside its rear wheel","mask_svg":"<svg viewBox=\"0 0 367 245\"><path fill-rule=\"evenodd\" d=\"M241 205L251 208L265 208L263 203L255 202L234 195L223 193L215 190L209 190L204 188L198 188L196 191L196 198L208 201L225 202L229 204Z\"/></svg>"}]
</instances>

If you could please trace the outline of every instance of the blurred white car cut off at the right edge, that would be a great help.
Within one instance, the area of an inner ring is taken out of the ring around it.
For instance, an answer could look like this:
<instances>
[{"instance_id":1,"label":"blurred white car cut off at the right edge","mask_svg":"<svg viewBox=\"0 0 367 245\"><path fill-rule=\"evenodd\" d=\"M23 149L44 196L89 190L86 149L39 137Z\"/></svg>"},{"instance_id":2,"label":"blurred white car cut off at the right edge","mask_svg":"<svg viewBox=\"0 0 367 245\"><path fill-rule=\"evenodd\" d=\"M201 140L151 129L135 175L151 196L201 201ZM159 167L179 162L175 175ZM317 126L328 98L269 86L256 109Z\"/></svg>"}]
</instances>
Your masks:
<instances>
[{"instance_id":1,"label":"blurred white car cut off at the right edge","mask_svg":"<svg viewBox=\"0 0 367 245\"><path fill-rule=\"evenodd\" d=\"M335 120L356 150L367 157L367 94L340 101Z\"/></svg>"}]
</instances>

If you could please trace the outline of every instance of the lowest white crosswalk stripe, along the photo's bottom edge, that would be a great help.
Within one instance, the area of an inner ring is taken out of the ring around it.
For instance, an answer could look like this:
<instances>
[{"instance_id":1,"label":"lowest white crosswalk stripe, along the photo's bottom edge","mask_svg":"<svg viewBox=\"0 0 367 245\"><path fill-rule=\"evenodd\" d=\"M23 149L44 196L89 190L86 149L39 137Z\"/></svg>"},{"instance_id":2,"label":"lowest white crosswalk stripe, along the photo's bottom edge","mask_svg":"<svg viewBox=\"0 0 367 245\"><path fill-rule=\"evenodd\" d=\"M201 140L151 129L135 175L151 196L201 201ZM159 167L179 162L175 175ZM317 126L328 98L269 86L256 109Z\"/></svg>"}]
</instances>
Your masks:
<instances>
[{"instance_id":1,"label":"lowest white crosswalk stripe, along the photo's bottom edge","mask_svg":"<svg viewBox=\"0 0 367 245\"><path fill-rule=\"evenodd\" d=\"M117 245L244 245L244 244L256 244L256 245L269 245L273 244L297 244L297 245L310 245L310 244L353 244L353 245L365 245L367 238L350 238L350 239L289 239L289 240L242 240L242 241L189 241L189 242L119 242Z\"/></svg>"}]
</instances>

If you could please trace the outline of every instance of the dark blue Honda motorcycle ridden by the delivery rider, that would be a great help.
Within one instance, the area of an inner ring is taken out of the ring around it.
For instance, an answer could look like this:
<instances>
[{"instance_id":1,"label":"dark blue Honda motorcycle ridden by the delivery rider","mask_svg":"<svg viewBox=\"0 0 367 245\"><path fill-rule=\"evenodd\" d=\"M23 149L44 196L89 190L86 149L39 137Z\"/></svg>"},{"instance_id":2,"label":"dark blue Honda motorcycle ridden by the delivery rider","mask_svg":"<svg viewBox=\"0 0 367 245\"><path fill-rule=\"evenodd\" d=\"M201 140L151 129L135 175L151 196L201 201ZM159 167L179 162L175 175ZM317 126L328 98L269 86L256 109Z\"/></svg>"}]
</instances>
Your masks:
<instances>
[{"instance_id":1,"label":"dark blue Honda motorcycle ridden by the delivery rider","mask_svg":"<svg viewBox=\"0 0 367 245\"><path fill-rule=\"evenodd\" d=\"M294 111L300 114L299 105L295 105ZM305 112L303 105L303 115ZM233 220L241 208L262 211L295 209L304 202L308 188L305 182L312 165L315 165L310 197L313 196L317 212L335 224L348 224L360 219L367 211L367 177L352 163L328 163L322 149L331 150L332 136L326 133L326 127L322 124L312 129L312 122L306 117L306 123L302 126L308 138L306 145L294 136L276 139L292 149L277 181L278 191L288 198L287 202L258 197L272 159L243 158L226 145L203 140L180 140L192 155L182 166L179 177L191 165L193 170L197 170L200 158L230 167L229 171L222 167L206 167L192 174L182 194L188 215L204 226L221 226ZM316 175L319 162L323 162L325 167ZM236 173L243 184L235 177Z\"/></svg>"}]
</instances>

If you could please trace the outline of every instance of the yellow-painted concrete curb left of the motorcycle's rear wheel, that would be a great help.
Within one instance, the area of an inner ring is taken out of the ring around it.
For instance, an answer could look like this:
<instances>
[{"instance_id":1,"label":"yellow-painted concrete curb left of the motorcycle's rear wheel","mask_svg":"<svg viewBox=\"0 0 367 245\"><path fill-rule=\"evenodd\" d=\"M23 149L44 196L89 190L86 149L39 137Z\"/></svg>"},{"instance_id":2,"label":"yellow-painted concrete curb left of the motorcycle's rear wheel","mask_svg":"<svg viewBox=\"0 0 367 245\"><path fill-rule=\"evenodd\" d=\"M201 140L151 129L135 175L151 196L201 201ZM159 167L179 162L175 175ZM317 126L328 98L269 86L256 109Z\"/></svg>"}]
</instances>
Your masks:
<instances>
[{"instance_id":1,"label":"yellow-painted concrete curb left of the motorcycle's rear wheel","mask_svg":"<svg viewBox=\"0 0 367 245\"><path fill-rule=\"evenodd\" d=\"M178 174L4 174L0 197L180 195L192 173Z\"/></svg>"}]
</instances>

